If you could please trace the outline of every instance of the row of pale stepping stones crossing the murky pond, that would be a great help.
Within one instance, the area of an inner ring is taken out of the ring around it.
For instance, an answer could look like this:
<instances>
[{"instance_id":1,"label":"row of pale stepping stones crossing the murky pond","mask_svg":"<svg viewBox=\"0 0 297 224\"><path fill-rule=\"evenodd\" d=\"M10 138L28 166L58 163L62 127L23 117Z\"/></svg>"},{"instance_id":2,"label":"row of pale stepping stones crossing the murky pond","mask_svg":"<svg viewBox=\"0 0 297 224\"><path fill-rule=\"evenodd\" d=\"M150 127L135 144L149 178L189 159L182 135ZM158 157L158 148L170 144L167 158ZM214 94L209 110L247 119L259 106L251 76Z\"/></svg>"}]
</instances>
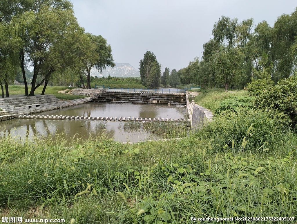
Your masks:
<instances>
[{"instance_id":1,"label":"row of pale stepping stones crossing the murky pond","mask_svg":"<svg viewBox=\"0 0 297 224\"><path fill-rule=\"evenodd\" d=\"M19 118L31 119L58 119L58 120L101 120L101 121L174 121L174 122L190 122L190 119L180 118L131 118L131 117L84 117L84 116L62 116L62 115L20 115Z\"/></svg>"}]
</instances>

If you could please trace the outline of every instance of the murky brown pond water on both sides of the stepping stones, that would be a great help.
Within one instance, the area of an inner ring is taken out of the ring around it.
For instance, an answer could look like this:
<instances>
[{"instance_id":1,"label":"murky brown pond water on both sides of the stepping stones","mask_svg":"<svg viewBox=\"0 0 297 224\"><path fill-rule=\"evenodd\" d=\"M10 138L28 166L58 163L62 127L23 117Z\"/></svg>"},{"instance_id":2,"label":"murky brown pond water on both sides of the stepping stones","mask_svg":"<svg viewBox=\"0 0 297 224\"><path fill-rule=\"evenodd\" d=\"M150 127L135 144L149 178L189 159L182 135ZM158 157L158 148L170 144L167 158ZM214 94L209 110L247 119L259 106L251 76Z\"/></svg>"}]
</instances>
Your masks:
<instances>
[{"instance_id":1,"label":"murky brown pond water on both sides of the stepping stones","mask_svg":"<svg viewBox=\"0 0 297 224\"><path fill-rule=\"evenodd\" d=\"M151 105L151 104L98 104L88 103L73 107L39 113L42 115L92 116L92 117L139 117L139 118L188 118L186 106ZM12 119L0 123L1 135L11 134L17 138L32 138L64 134L67 140L98 137L104 134L119 142L138 142L142 140L161 139L162 136L151 134L142 129L125 130L124 122L97 120L46 120L46 119Z\"/></svg>"}]
</instances>

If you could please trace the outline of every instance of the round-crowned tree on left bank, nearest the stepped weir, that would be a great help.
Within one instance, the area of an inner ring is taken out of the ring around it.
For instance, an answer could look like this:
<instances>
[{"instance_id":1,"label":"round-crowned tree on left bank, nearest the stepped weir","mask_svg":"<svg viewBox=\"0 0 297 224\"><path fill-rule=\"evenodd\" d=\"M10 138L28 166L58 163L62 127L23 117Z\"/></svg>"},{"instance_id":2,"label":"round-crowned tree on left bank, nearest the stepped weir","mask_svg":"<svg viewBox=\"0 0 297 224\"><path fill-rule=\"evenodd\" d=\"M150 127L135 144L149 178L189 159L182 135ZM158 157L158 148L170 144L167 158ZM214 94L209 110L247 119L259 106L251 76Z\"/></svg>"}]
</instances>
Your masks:
<instances>
[{"instance_id":1,"label":"round-crowned tree on left bank, nearest the stepped weir","mask_svg":"<svg viewBox=\"0 0 297 224\"><path fill-rule=\"evenodd\" d=\"M87 77L87 88L89 89L91 88L90 72L93 67L96 68L99 73L102 73L106 67L110 66L113 68L116 64L111 54L111 46L107 45L106 39L101 35L96 36L90 33L86 33L86 37L85 44L88 46L85 48L82 63L83 72Z\"/></svg>"}]
</instances>

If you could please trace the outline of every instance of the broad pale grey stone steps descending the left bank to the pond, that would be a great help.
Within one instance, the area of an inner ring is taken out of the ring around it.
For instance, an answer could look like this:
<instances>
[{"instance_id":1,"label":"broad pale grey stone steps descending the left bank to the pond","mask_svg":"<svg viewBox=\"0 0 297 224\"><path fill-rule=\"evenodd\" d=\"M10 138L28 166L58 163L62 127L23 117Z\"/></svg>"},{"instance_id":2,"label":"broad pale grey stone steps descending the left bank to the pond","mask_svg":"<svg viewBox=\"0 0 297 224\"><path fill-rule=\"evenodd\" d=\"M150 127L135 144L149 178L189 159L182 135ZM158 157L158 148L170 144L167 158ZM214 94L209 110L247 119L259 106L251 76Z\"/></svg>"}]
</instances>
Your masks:
<instances>
[{"instance_id":1,"label":"broad pale grey stone steps descending the left bank to the pond","mask_svg":"<svg viewBox=\"0 0 297 224\"><path fill-rule=\"evenodd\" d=\"M58 109L72 105L86 103L87 99L78 100L59 100L54 95L35 95L26 97L20 95L14 98L0 99L0 108L2 109L0 115L21 115L31 114L49 109Z\"/></svg>"}]
</instances>

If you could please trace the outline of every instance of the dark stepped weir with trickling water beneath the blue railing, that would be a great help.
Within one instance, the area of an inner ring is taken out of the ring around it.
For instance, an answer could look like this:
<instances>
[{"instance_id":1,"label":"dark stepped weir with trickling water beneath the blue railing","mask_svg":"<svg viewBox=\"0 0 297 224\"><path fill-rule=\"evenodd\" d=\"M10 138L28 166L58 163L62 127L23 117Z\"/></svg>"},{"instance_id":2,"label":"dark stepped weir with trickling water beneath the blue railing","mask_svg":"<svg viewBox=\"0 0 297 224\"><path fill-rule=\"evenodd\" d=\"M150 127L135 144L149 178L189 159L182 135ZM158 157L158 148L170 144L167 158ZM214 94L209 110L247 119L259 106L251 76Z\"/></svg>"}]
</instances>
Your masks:
<instances>
[{"instance_id":1,"label":"dark stepped weir with trickling water beneath the blue railing","mask_svg":"<svg viewBox=\"0 0 297 224\"><path fill-rule=\"evenodd\" d=\"M119 93L106 92L94 102L131 103L131 104L175 104L185 105L186 95L184 93Z\"/></svg>"}]
</instances>

